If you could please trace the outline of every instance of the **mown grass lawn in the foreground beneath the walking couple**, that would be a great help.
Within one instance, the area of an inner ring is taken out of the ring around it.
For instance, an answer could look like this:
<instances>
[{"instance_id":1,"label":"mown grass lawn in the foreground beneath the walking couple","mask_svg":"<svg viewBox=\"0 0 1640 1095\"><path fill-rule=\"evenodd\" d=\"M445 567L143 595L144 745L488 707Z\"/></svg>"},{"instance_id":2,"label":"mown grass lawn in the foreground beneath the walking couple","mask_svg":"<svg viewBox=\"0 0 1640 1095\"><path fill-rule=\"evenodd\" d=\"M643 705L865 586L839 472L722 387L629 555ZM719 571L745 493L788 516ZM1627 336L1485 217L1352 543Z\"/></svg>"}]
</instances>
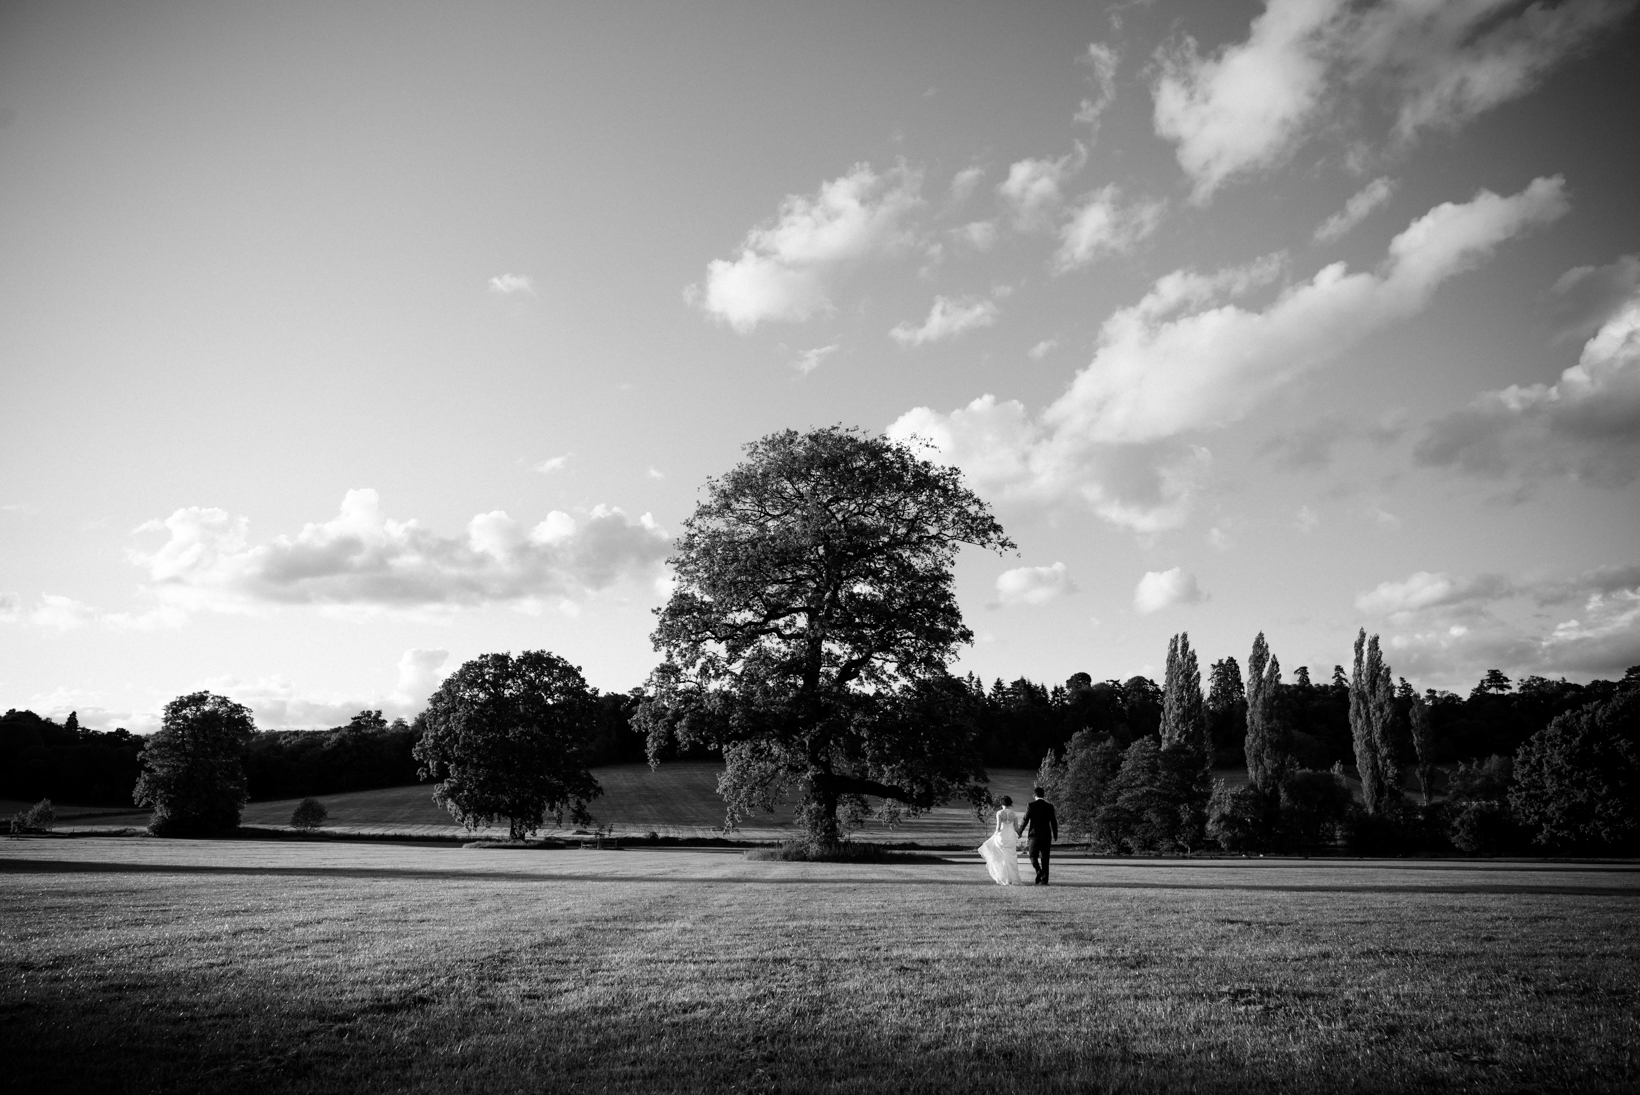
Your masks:
<instances>
[{"instance_id":1,"label":"mown grass lawn in the foreground beneath the walking couple","mask_svg":"<svg viewBox=\"0 0 1640 1095\"><path fill-rule=\"evenodd\" d=\"M41 1092L1640 1085L1640 869L0 839Z\"/></svg>"}]
</instances>

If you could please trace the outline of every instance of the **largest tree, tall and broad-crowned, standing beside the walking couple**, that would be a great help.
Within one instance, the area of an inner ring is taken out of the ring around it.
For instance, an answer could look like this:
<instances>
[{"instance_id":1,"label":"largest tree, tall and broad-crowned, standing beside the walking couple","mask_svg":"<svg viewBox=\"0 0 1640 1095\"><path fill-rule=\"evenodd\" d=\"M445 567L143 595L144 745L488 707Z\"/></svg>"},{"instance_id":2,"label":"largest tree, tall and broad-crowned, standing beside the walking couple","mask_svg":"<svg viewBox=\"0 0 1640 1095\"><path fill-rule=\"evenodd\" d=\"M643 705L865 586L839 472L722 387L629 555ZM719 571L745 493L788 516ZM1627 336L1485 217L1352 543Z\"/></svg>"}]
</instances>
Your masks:
<instances>
[{"instance_id":1,"label":"largest tree, tall and broad-crowned, standing beside the walking couple","mask_svg":"<svg viewBox=\"0 0 1640 1095\"><path fill-rule=\"evenodd\" d=\"M1014 544L959 472L841 426L787 429L705 493L653 634L651 762L708 743L731 821L797 787L820 841L866 797L889 816L984 800L966 688L946 675L973 641L953 566L964 544Z\"/></svg>"}]
</instances>

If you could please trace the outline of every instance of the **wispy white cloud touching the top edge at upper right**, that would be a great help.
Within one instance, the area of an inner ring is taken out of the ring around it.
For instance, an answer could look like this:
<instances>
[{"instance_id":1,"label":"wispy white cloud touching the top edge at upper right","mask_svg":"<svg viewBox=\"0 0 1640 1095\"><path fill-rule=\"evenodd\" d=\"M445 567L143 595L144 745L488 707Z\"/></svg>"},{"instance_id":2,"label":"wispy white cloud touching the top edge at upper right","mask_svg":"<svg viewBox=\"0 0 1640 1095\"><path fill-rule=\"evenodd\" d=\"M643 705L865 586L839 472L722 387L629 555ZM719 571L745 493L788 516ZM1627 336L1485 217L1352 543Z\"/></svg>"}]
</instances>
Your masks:
<instances>
[{"instance_id":1,"label":"wispy white cloud touching the top edge at upper right","mask_svg":"<svg viewBox=\"0 0 1640 1095\"><path fill-rule=\"evenodd\" d=\"M1387 103L1405 143L1532 90L1633 8L1632 0L1532 3L1269 0L1248 38L1204 57L1184 38L1158 51L1156 133L1207 202L1228 179L1284 162L1361 103Z\"/></svg>"}]
</instances>

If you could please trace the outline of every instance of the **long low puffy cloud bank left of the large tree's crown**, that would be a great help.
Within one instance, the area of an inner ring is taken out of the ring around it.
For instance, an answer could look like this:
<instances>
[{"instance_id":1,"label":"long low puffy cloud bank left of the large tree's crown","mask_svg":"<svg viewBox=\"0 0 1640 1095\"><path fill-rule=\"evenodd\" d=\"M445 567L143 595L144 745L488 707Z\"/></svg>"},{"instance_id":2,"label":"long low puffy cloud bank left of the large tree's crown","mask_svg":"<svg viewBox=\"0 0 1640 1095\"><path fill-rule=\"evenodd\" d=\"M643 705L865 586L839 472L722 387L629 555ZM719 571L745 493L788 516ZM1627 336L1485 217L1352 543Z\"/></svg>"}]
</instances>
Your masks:
<instances>
[{"instance_id":1,"label":"long low puffy cloud bank left of the large tree's crown","mask_svg":"<svg viewBox=\"0 0 1640 1095\"><path fill-rule=\"evenodd\" d=\"M139 531L166 533L131 561L162 605L249 611L264 605L425 608L513 603L646 579L671 538L649 515L595 507L553 511L535 528L481 513L466 536L441 536L380 511L374 490L349 490L341 513L295 536L251 544L246 518L189 507Z\"/></svg>"}]
</instances>

